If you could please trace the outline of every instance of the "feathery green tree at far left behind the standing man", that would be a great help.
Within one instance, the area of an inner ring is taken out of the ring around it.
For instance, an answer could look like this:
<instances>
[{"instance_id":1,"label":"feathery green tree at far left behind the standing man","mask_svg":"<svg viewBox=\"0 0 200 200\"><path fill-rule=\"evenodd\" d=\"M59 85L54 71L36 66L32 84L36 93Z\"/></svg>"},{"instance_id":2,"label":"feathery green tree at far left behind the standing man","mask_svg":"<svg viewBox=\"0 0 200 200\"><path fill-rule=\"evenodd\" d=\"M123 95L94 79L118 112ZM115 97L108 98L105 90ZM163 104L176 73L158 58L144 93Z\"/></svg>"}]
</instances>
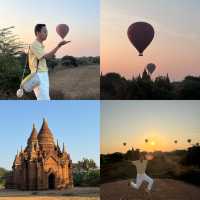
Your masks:
<instances>
[{"instance_id":1,"label":"feathery green tree at far left behind the standing man","mask_svg":"<svg viewBox=\"0 0 200 200\"><path fill-rule=\"evenodd\" d=\"M0 29L0 85L2 93L16 92L23 70L23 65L19 61L23 43L13 34L13 28ZM1 95L1 98L5 97Z\"/></svg>"}]
</instances>

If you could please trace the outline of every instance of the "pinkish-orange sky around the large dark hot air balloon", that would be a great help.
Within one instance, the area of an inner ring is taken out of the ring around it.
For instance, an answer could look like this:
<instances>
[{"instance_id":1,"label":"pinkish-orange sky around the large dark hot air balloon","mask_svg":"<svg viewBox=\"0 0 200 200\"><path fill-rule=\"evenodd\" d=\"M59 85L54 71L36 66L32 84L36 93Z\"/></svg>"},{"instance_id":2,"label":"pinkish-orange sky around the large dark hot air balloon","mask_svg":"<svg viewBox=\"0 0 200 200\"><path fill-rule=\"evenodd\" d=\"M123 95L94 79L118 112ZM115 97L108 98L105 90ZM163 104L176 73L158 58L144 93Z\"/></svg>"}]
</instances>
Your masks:
<instances>
[{"instance_id":1,"label":"pinkish-orange sky around the large dark hot air balloon","mask_svg":"<svg viewBox=\"0 0 200 200\"><path fill-rule=\"evenodd\" d=\"M130 79L142 73L148 63L155 63L153 78L167 73L172 81L199 76L199 8L199 0L102 0L101 71ZM155 29L143 57L127 37L128 27L138 21Z\"/></svg>"}]
</instances>

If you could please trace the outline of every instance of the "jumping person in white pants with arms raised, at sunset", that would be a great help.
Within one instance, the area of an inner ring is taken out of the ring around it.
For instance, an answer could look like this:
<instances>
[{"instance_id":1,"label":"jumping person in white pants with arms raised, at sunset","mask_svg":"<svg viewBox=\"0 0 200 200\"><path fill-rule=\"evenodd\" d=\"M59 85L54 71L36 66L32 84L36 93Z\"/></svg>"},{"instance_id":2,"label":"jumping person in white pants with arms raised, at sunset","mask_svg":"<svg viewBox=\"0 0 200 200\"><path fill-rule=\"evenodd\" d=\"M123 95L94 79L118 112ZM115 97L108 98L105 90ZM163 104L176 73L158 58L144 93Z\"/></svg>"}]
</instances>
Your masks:
<instances>
[{"instance_id":1,"label":"jumping person in white pants with arms raised, at sunset","mask_svg":"<svg viewBox=\"0 0 200 200\"><path fill-rule=\"evenodd\" d=\"M140 158L139 160L136 161L130 161L133 165L135 165L136 170L137 170L137 177L136 177L136 183L134 183L133 181L130 182L130 186L135 188L135 189L139 189L140 186L142 185L142 183L144 181L146 181L148 183L148 187L147 187L147 192L151 191L152 186L153 186L153 179L150 178L146 173L146 168L147 168L147 163L148 160L152 160L153 156L145 156L143 154L140 154Z\"/></svg>"}]
</instances>

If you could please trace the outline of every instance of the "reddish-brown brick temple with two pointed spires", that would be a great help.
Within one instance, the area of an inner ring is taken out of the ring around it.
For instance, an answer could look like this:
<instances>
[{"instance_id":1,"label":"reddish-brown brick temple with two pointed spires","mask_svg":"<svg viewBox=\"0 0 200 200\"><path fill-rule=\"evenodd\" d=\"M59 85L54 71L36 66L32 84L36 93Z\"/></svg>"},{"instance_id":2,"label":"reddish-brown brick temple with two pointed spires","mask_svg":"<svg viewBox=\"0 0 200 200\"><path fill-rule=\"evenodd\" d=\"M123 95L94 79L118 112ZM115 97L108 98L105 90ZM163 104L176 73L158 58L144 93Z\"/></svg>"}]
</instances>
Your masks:
<instances>
[{"instance_id":1,"label":"reddish-brown brick temple with two pointed spires","mask_svg":"<svg viewBox=\"0 0 200 200\"><path fill-rule=\"evenodd\" d=\"M27 146L17 153L12 174L6 182L7 188L21 190L48 190L73 187L72 160L63 144L57 144L47 121L37 133L35 125Z\"/></svg>"}]
</instances>

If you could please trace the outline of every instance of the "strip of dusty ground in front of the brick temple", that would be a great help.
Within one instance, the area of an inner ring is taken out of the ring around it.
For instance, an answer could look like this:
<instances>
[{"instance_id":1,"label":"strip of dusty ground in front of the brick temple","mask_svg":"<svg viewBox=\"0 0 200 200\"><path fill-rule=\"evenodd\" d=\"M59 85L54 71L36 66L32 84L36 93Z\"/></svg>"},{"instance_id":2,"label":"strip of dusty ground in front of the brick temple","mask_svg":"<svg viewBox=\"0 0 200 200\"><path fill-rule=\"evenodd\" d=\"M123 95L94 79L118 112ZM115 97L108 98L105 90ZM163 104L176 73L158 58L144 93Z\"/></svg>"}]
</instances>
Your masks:
<instances>
[{"instance_id":1,"label":"strip of dusty ground in front of the brick temple","mask_svg":"<svg viewBox=\"0 0 200 200\"><path fill-rule=\"evenodd\" d=\"M63 191L0 190L0 200L99 200L99 188L73 188Z\"/></svg>"}]
</instances>

